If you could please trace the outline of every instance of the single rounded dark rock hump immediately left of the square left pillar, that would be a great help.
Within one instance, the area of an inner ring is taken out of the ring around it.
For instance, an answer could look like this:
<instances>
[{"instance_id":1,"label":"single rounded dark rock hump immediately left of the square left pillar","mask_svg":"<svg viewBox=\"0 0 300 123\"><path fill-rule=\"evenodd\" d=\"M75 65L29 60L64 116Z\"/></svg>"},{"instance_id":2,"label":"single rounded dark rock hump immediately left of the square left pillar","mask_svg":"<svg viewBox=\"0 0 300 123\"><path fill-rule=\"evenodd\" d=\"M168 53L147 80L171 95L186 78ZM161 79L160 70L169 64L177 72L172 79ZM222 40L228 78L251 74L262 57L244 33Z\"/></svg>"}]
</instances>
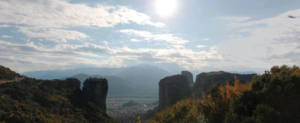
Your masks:
<instances>
[{"instance_id":1,"label":"single rounded dark rock hump immediately left of the square left pillar","mask_svg":"<svg viewBox=\"0 0 300 123\"><path fill-rule=\"evenodd\" d=\"M77 78L66 78L65 80L60 81L56 88L80 88L80 81Z\"/></svg>"}]
</instances>

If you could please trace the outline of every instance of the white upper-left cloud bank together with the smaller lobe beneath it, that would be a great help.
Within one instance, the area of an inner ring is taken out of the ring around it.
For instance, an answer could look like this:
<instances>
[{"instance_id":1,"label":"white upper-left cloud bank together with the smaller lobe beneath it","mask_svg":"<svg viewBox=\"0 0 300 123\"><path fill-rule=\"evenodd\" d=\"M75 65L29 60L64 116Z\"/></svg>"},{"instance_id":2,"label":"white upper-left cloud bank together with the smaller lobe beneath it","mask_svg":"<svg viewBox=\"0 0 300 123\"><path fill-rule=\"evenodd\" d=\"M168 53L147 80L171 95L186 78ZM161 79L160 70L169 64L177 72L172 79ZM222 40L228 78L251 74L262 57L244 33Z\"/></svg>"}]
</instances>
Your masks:
<instances>
[{"instance_id":1,"label":"white upper-left cloud bank together with the smaller lobe beneath it","mask_svg":"<svg viewBox=\"0 0 300 123\"><path fill-rule=\"evenodd\" d=\"M145 13L129 6L69 3L68 0L1 0L0 23L16 24L19 32L29 38L44 38L53 42L86 39L85 33L67 30L70 27L114 27L117 24L136 23L164 27L152 22ZM0 27L12 25L2 24Z\"/></svg>"}]
</instances>

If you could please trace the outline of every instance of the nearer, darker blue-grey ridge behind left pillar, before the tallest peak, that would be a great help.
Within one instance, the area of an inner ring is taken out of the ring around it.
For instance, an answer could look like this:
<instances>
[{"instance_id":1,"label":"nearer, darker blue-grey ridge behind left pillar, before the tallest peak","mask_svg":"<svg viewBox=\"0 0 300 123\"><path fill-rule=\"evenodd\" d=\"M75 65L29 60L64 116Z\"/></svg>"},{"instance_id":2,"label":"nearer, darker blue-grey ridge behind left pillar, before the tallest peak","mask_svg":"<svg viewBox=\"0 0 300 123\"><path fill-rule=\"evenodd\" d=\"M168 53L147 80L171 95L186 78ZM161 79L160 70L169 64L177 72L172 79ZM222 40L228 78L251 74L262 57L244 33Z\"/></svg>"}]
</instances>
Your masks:
<instances>
[{"instance_id":1,"label":"nearer, darker blue-grey ridge behind left pillar, before the tallest peak","mask_svg":"<svg viewBox=\"0 0 300 123\"><path fill-rule=\"evenodd\" d=\"M120 77L113 76L113 75L102 76L102 75L88 75L88 74L79 73L73 76L64 77L60 79L64 80L66 78L77 78L81 82L80 88L82 88L84 80L89 77L106 78L108 81L108 93L107 93L108 95L134 94L136 92L136 89L133 87L133 84L130 81L124 80Z\"/></svg>"}]
</instances>

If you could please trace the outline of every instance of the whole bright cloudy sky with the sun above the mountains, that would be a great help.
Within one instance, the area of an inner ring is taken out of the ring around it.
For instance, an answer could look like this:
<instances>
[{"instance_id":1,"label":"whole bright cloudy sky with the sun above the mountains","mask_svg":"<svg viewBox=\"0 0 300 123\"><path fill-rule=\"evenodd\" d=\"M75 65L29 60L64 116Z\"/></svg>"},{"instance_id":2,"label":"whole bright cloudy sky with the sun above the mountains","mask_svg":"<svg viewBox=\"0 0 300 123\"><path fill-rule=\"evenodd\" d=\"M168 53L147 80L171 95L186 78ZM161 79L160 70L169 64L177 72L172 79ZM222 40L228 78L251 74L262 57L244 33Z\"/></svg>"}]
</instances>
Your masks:
<instances>
[{"instance_id":1,"label":"whole bright cloudy sky with the sun above the mountains","mask_svg":"<svg viewBox=\"0 0 300 123\"><path fill-rule=\"evenodd\" d=\"M0 65L262 73L300 64L300 18L288 15L299 0L0 0Z\"/></svg>"}]
</instances>

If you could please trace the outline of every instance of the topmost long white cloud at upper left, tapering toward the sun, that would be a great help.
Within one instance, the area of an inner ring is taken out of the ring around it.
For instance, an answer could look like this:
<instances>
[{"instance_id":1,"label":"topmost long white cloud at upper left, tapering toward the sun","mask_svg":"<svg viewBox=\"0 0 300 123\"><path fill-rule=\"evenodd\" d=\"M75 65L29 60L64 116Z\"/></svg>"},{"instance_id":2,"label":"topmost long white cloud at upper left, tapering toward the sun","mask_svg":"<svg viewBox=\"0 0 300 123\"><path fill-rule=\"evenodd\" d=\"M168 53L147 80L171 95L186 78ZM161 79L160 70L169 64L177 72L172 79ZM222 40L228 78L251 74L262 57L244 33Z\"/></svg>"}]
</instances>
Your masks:
<instances>
[{"instance_id":1,"label":"topmost long white cloud at upper left, tapering toward the sun","mask_svg":"<svg viewBox=\"0 0 300 123\"><path fill-rule=\"evenodd\" d=\"M67 0L2 0L0 22L25 24L38 28L62 28L66 26L112 27L120 23L165 26L152 22L145 13L129 6L106 4L69 3Z\"/></svg>"}]
</instances>

